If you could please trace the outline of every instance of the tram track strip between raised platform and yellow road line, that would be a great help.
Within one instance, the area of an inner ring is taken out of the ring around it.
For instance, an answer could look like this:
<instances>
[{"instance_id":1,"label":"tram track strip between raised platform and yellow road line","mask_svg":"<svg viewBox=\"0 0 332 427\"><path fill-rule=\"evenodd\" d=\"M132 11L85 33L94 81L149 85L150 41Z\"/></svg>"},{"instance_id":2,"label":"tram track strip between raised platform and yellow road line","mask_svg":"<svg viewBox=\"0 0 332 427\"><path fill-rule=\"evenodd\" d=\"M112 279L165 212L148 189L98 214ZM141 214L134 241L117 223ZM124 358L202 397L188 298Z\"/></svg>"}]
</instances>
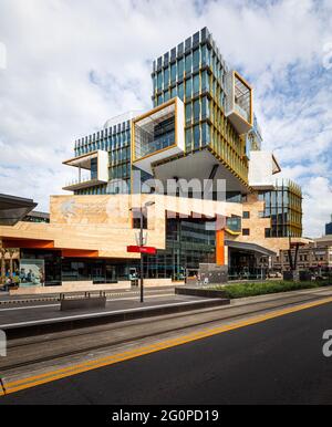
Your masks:
<instances>
[{"instance_id":1,"label":"tram track strip between raised platform and yellow road line","mask_svg":"<svg viewBox=\"0 0 332 427\"><path fill-rule=\"evenodd\" d=\"M326 292L324 292L326 293ZM300 295L299 295L300 296ZM294 295L279 299L278 301L261 301L247 304L229 305L227 308L214 308L195 310L186 313L167 314L153 319L122 322L122 324L107 324L89 326L86 329L56 332L48 335L33 336L31 339L18 339L9 341L8 357L0 363L0 377L10 371L29 367L51 361L61 361L71 356L84 356L93 351L115 348L123 344L139 342L146 339L156 339L169 333L187 333L190 329L199 329L229 320L238 320L243 316L263 314L274 309L297 305L303 302L318 301L326 295L317 293L302 293L300 298ZM274 301L274 304L271 302ZM250 309L252 308L252 309ZM245 309L245 310L243 310ZM200 319L199 319L200 317ZM178 321L183 320L181 324ZM146 333L146 327L149 332ZM129 332L129 333L128 333ZM131 333L132 332L132 333ZM106 336L107 335L107 336ZM86 345L84 343L86 342ZM97 343L96 343L97 342ZM68 346L66 351L61 348ZM48 353L50 348L55 352ZM59 351L56 352L56 348ZM20 355L18 356L18 352ZM43 355L42 355L43 354ZM13 356L11 356L13 355ZM27 357L30 357L27 360ZM10 360L17 358L15 362ZM9 362L9 363L6 363Z\"/></svg>"}]
</instances>

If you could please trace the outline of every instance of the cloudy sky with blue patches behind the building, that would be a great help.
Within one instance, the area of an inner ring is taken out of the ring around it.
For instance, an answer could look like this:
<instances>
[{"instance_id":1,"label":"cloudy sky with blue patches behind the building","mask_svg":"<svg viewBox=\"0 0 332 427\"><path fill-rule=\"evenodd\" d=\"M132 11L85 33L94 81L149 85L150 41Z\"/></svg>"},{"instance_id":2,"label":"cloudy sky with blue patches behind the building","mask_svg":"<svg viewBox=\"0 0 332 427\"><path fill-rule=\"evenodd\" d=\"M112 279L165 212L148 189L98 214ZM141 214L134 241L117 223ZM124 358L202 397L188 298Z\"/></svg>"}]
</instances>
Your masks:
<instances>
[{"instance_id":1,"label":"cloudy sky with blue patches behind the building","mask_svg":"<svg viewBox=\"0 0 332 427\"><path fill-rule=\"evenodd\" d=\"M151 108L153 59L203 27L255 86L264 148L302 185L304 235L332 212L332 0L0 0L0 192L49 209L73 142ZM92 79L93 76L93 79Z\"/></svg>"}]
</instances>

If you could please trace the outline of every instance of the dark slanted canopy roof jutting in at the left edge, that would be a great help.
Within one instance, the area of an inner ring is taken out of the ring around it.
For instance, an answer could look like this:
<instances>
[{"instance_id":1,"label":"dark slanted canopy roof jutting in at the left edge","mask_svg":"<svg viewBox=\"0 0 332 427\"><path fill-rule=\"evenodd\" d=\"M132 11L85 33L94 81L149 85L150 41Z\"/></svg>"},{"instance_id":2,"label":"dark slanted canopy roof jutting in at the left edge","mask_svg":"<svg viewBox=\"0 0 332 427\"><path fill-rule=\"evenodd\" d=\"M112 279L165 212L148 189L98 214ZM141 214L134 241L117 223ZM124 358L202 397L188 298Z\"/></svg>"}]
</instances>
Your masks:
<instances>
[{"instance_id":1,"label":"dark slanted canopy roof jutting in at the left edge","mask_svg":"<svg viewBox=\"0 0 332 427\"><path fill-rule=\"evenodd\" d=\"M37 205L32 199L0 195L0 226L14 226Z\"/></svg>"}]
</instances>

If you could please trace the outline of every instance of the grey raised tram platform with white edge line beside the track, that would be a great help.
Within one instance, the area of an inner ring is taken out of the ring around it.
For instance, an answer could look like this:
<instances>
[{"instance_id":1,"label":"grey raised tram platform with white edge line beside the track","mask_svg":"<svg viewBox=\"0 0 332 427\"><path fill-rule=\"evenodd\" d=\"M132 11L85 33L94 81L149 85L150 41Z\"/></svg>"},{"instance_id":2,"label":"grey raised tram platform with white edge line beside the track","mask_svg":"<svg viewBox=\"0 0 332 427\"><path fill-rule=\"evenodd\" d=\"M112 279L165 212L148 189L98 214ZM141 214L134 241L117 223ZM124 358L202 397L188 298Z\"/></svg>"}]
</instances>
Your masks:
<instances>
[{"instance_id":1,"label":"grey raised tram platform with white edge line beside the track","mask_svg":"<svg viewBox=\"0 0 332 427\"><path fill-rule=\"evenodd\" d=\"M135 300L107 301L102 310L60 311L60 303L35 306L3 308L0 310L0 330L10 337L59 329L83 327L92 324L120 322L152 315L215 308L229 304L225 299L201 299L193 296L153 296L141 303Z\"/></svg>"}]
</instances>

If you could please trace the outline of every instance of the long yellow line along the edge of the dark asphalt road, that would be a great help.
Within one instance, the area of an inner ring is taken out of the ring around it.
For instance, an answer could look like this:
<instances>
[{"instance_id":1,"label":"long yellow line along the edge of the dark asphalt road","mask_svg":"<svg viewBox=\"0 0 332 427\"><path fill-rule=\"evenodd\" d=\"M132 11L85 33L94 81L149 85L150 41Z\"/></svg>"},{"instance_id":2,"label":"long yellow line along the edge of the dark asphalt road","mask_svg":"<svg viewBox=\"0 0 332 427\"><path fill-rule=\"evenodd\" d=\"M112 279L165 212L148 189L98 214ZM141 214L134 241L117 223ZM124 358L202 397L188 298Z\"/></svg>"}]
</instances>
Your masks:
<instances>
[{"instance_id":1,"label":"long yellow line along the edge of the dark asphalt road","mask_svg":"<svg viewBox=\"0 0 332 427\"><path fill-rule=\"evenodd\" d=\"M155 344L151 344L147 346L129 350L126 352L117 353L111 356L97 358L94 361L87 361L77 365L72 365L68 367L63 367L56 371L51 371L44 374L34 375L28 378L18 379L15 382L11 382L8 384L4 384L6 387L6 394L15 393L25 388L35 387L41 384L50 383L56 379L65 378L69 376L77 375L87 371L96 369L103 366L110 366L120 362L128 361L131 358L135 358L138 356L143 356L151 353L156 353L162 350L170 348L177 345L183 345L190 343L193 341L201 340L205 337L209 337L212 335L217 335L224 332L237 330L240 327L253 325L256 323L264 322L270 319L279 317L284 314L289 313L295 313L301 310L311 309L314 306L319 306L322 304L328 304L332 302L332 298L325 298L323 300L304 303L295 306L291 306L288 309L281 309L281 310L274 310L266 314L261 314L255 317L249 317L242 321L234 322L226 324L224 326L212 327L212 329L205 329L199 332L195 332L188 335L184 335L177 339L170 339L165 340ZM0 390L0 396L3 396L4 393Z\"/></svg>"}]
</instances>

